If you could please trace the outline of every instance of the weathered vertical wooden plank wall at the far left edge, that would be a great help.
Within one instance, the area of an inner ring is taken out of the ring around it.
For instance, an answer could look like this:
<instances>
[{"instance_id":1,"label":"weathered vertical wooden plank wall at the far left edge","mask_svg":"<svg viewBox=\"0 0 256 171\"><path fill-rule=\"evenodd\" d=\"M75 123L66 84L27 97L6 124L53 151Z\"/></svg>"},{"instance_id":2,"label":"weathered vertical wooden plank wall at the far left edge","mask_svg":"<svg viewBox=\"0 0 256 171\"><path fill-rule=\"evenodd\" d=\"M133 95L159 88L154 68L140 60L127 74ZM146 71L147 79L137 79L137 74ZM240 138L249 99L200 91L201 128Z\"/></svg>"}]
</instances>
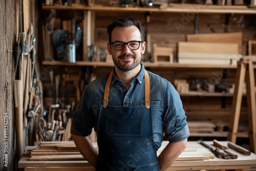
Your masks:
<instances>
[{"instance_id":1,"label":"weathered vertical wooden plank wall at the far left edge","mask_svg":"<svg viewBox=\"0 0 256 171\"><path fill-rule=\"evenodd\" d=\"M14 50L16 41L16 0L0 1L0 170L15 170L16 168L16 143L14 127L14 55L7 50ZM6 36L8 44L6 46ZM7 120L5 119L7 118ZM7 137L4 135L7 131ZM5 140L6 139L6 140ZM4 142L7 142L3 144ZM7 155L8 160L4 159ZM4 161L7 161L4 162ZM6 167L5 164L7 164Z\"/></svg>"}]
</instances>

